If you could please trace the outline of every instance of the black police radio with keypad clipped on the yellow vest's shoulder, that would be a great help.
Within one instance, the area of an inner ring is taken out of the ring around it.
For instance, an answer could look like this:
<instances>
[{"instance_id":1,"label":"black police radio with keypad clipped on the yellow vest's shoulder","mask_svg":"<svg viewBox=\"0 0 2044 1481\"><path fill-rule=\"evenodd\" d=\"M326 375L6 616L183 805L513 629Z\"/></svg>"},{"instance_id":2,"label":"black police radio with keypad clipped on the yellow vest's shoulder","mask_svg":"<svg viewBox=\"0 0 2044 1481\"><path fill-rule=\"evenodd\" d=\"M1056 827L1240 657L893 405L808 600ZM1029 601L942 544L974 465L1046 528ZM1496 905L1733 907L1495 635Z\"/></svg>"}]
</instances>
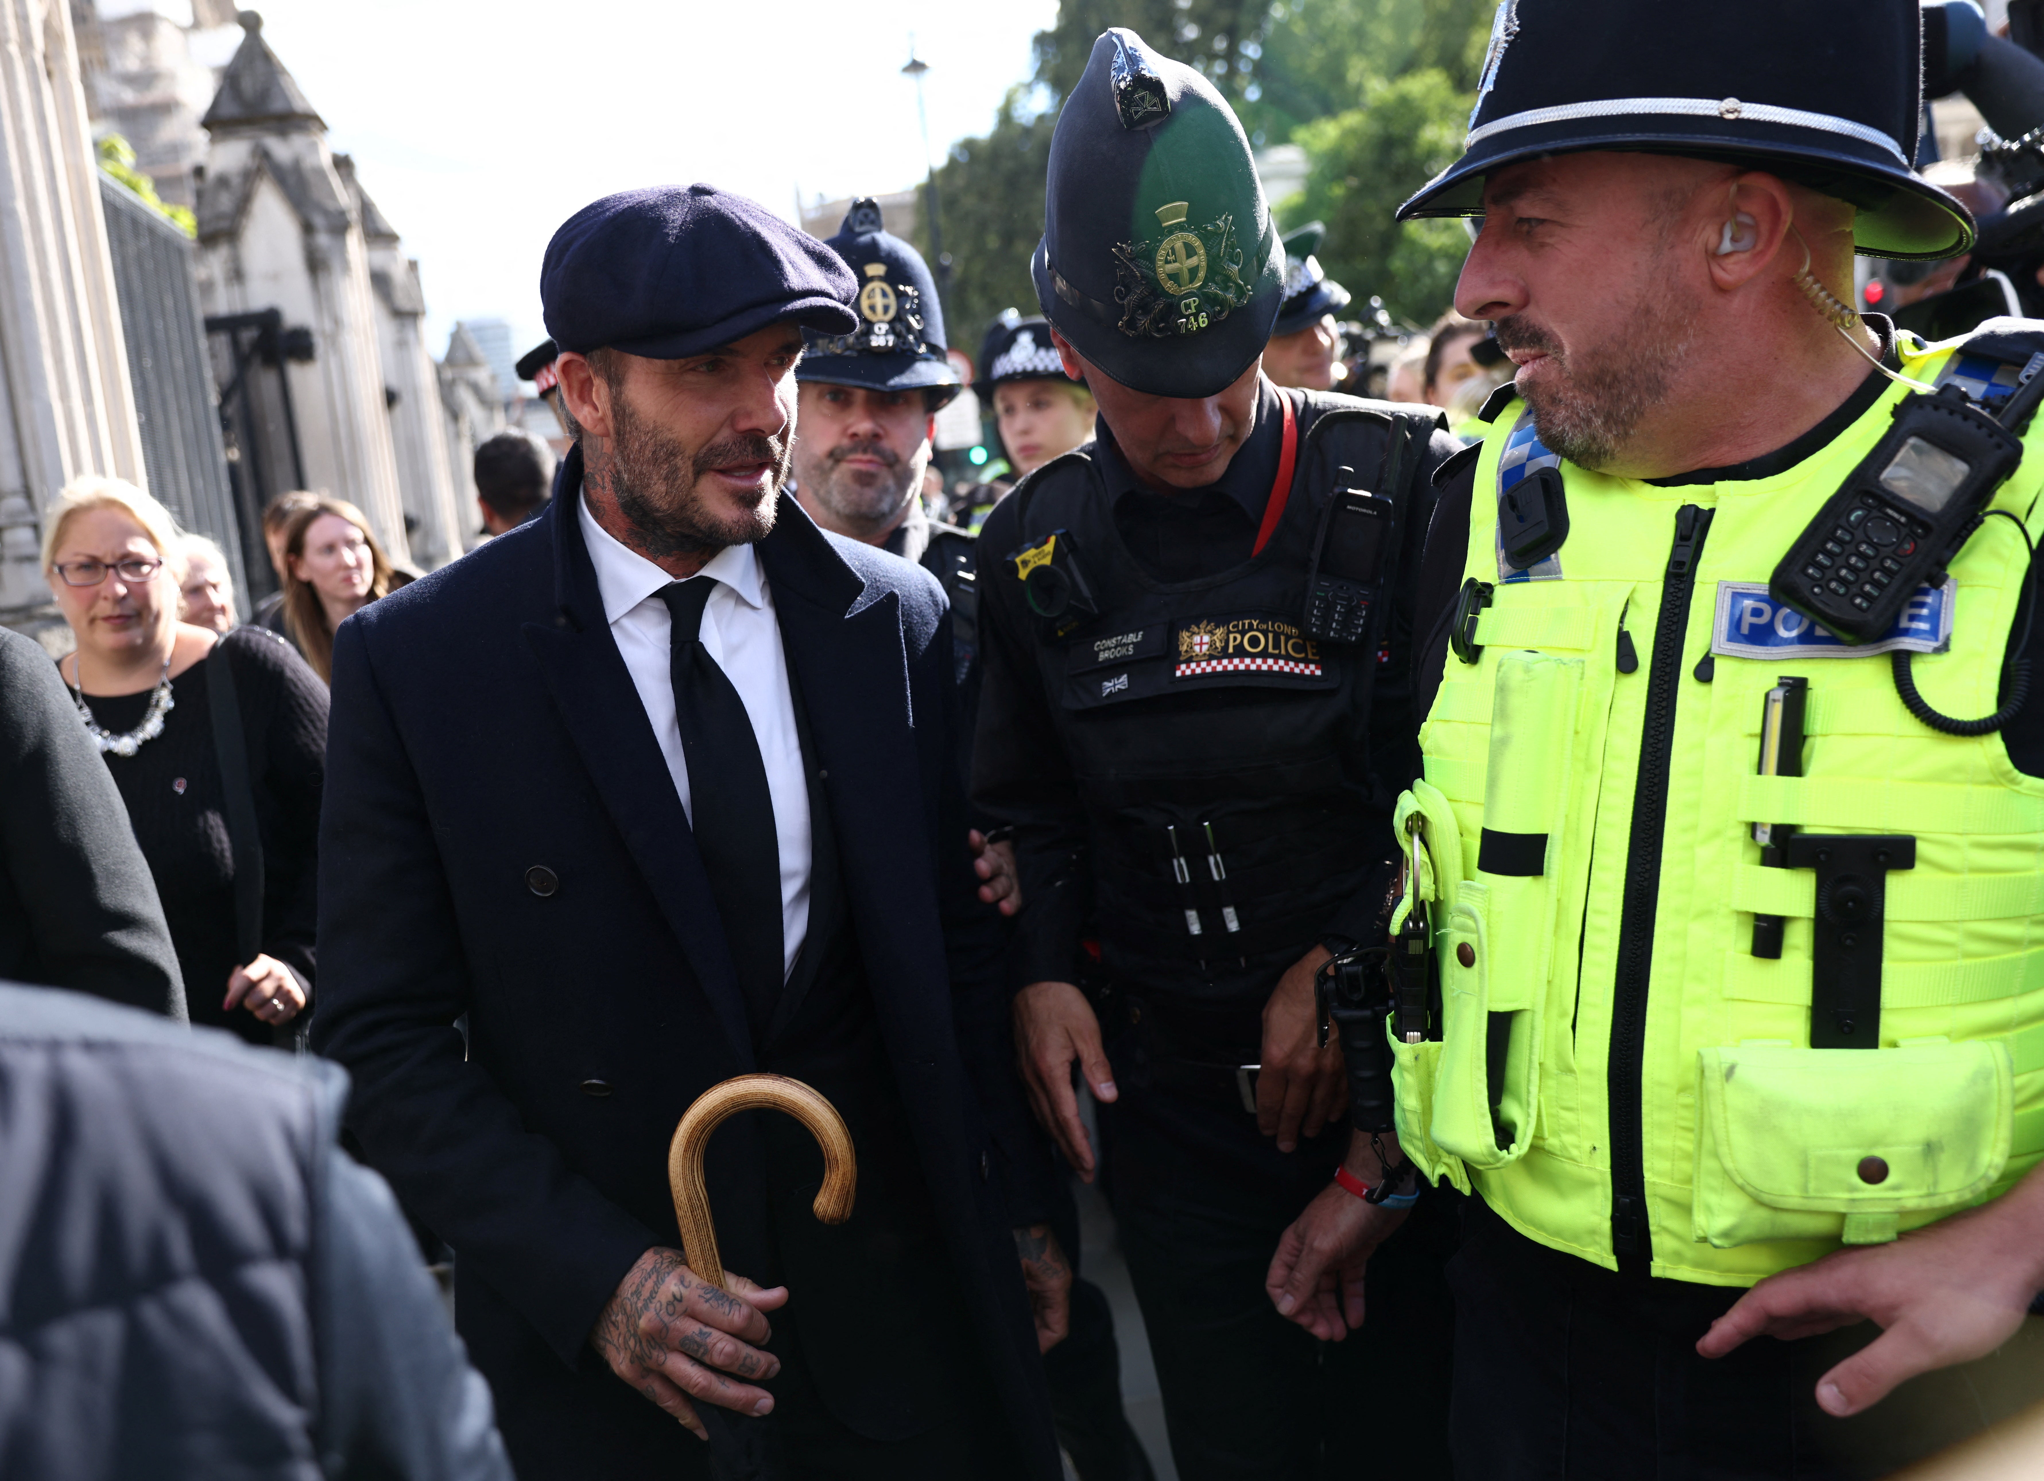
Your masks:
<instances>
[{"instance_id":1,"label":"black police radio with keypad clipped on the yellow vest's shoulder","mask_svg":"<svg viewBox=\"0 0 2044 1481\"><path fill-rule=\"evenodd\" d=\"M1885 636L1917 587L1944 585L1946 565L2022 462L2017 438L2044 399L2040 370L2044 352L2022 366L1999 417L1956 383L1903 397L1889 434L1774 567L1768 595L1846 642Z\"/></svg>"}]
</instances>

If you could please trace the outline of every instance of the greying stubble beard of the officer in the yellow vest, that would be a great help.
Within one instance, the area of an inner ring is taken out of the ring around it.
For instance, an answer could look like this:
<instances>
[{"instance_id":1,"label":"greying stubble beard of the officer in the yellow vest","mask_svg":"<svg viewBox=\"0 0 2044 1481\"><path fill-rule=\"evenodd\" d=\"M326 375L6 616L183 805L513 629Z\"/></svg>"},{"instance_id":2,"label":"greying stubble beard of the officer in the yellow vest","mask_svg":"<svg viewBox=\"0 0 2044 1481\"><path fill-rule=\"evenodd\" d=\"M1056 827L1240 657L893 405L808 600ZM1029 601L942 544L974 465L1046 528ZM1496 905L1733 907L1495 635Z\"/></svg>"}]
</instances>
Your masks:
<instances>
[{"instance_id":1,"label":"greying stubble beard of the officer in the yellow vest","mask_svg":"<svg viewBox=\"0 0 2044 1481\"><path fill-rule=\"evenodd\" d=\"M1666 284L1672 274L1647 264L1623 327L1600 344L1564 354L1562 342L1527 319L1498 319L1498 346L1549 356L1545 385L1521 383L1533 430L1578 468L1607 468L1639 432L1650 411L1668 399L1676 372L1697 340L1694 309Z\"/></svg>"}]
</instances>

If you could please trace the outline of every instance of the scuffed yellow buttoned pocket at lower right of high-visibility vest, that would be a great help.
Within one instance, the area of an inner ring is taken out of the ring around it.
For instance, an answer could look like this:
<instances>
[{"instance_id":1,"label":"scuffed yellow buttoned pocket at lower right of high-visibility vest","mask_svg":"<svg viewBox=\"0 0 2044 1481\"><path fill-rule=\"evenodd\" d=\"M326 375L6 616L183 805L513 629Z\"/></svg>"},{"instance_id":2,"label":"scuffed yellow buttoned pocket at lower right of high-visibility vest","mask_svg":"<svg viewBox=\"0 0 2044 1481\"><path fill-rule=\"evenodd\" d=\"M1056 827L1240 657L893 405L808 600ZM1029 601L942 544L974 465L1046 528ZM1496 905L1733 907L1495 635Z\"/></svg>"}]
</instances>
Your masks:
<instances>
[{"instance_id":1,"label":"scuffed yellow buttoned pocket at lower right of high-visibility vest","mask_svg":"<svg viewBox=\"0 0 2044 1481\"><path fill-rule=\"evenodd\" d=\"M1692 1233L1883 1244L1979 1201L2009 1160L2007 1043L1697 1056Z\"/></svg>"}]
</instances>

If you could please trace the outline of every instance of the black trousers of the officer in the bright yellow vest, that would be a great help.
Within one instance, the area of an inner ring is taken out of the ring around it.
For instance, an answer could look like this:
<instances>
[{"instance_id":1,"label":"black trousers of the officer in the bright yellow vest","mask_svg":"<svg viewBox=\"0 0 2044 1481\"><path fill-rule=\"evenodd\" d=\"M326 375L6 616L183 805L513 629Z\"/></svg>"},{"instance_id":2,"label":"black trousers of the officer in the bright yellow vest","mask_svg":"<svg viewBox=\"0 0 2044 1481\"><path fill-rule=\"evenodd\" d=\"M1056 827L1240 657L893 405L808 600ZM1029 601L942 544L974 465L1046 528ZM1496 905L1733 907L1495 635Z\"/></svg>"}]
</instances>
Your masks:
<instances>
[{"instance_id":1,"label":"black trousers of the officer in the bright yellow vest","mask_svg":"<svg viewBox=\"0 0 2044 1481\"><path fill-rule=\"evenodd\" d=\"M1862 1481L2044 1393L2044 1321L2001 1352L1905 1383L1850 1420L1817 1379L1878 1336L1697 1340L1744 1291L1621 1276L1527 1240L1468 1201L1455 1291L1455 1475L1464 1481Z\"/></svg>"}]
</instances>

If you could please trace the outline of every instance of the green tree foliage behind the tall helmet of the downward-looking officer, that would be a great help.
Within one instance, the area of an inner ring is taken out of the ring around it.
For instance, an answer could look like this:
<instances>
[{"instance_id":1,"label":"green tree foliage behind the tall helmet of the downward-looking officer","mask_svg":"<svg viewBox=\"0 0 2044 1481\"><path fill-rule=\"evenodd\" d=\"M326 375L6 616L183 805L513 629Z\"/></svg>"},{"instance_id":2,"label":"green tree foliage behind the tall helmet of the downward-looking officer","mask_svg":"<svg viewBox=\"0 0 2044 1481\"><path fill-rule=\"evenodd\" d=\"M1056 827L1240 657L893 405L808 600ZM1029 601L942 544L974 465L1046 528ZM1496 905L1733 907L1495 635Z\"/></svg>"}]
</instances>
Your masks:
<instances>
[{"instance_id":1,"label":"green tree foliage behind the tall helmet of the downward-looking officer","mask_svg":"<svg viewBox=\"0 0 2044 1481\"><path fill-rule=\"evenodd\" d=\"M1059 0L985 137L938 168L950 286L944 323L967 354L1002 309L1036 311L1028 258L1042 235L1057 108L1094 39L1128 27L1204 72L1255 145L1304 145L1310 178L1273 200L1284 225L1320 217L1320 260L1359 297L1425 323L1447 307L1468 239L1455 223L1398 227L1398 203L1459 153L1496 0ZM1374 117L1376 115L1376 117ZM928 207L928 200L924 200ZM928 209L916 245L930 252Z\"/></svg>"}]
</instances>

